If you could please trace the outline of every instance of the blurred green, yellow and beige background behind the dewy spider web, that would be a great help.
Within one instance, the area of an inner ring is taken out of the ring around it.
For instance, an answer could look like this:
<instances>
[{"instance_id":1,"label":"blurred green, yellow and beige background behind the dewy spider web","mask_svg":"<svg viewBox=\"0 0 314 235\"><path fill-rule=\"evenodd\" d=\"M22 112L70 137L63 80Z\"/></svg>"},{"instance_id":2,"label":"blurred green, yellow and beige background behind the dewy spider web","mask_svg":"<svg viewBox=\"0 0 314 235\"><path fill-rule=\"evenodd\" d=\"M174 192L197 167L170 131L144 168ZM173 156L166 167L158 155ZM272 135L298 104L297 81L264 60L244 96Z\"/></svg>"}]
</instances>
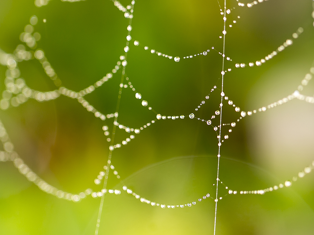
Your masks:
<instances>
[{"instance_id":1,"label":"blurred green, yellow and beige background behind the dewy spider web","mask_svg":"<svg viewBox=\"0 0 314 235\"><path fill-rule=\"evenodd\" d=\"M224 2L218 1L223 7ZM115 149L112 164L121 176L109 173L99 234L213 234L215 202L198 201L210 193L215 198L218 139L208 120L219 108L223 51L223 19L217 0L137 0L132 19L126 76L142 99L165 116ZM245 1L245 4L248 1ZM122 0L127 6L130 2ZM227 0L225 95L241 110L253 110L292 94L313 66L313 1L269 0L252 8ZM235 7L235 9L233 9ZM40 48L62 86L80 91L100 80L124 55L128 19L109 0L62 2L51 0L37 8L33 0L1 0L0 48L13 53L24 44L19 35L32 15ZM238 18L240 16L240 18ZM43 22L46 19L46 23ZM236 23L232 23L236 20ZM232 27L229 27L232 24ZM292 34L304 29L297 39ZM293 44L262 66L236 68L235 63L255 62L287 39ZM133 41L138 40L139 46ZM148 46L149 50L144 50ZM211 48L214 47L215 50ZM35 49L35 50L36 50ZM151 54L154 49L180 56L180 62ZM192 59L184 56L201 53ZM30 49L28 49L30 50ZM217 51L216 51L217 50ZM18 64L28 87L38 91L58 89L38 60ZM0 66L0 91L7 68ZM116 112L121 69L112 79L84 98L100 112ZM126 84L126 82L125 82ZM210 93L213 86L217 86ZM205 96L210 98L195 111ZM314 82L300 91L313 96ZM222 122L240 117L223 101ZM139 128L156 118L141 105L130 88L123 88L118 122ZM18 107L0 111L0 120L20 155L36 174L60 190L73 194L91 188L106 165L109 145L102 130L113 119L101 121L76 100L60 96L49 102L29 99ZM240 195L291 180L314 160L314 106L294 99L257 112L237 123L221 146L219 178L237 195L219 184L216 234L313 234L314 173L265 195ZM129 137L117 128L115 143ZM1 147L2 148L2 147ZM2 149L1 149L2 150ZM74 203L48 195L29 182L10 161L0 162L0 234L94 234L100 198L88 196ZM141 197L165 205L196 201L191 207L161 209L140 202L122 190L127 185Z\"/></svg>"}]
</instances>

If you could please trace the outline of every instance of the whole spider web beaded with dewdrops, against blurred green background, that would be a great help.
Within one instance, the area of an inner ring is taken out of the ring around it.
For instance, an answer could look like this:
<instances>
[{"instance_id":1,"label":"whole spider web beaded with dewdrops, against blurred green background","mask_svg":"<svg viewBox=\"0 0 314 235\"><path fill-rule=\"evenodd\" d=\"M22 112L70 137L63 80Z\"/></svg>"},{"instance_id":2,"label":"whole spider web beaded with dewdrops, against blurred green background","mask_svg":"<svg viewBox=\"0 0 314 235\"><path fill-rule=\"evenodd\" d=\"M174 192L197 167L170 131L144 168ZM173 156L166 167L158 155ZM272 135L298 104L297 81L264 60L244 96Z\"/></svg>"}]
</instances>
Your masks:
<instances>
[{"instance_id":1,"label":"whole spider web beaded with dewdrops, against blurred green background","mask_svg":"<svg viewBox=\"0 0 314 235\"><path fill-rule=\"evenodd\" d=\"M41 7L44 5L47 5L50 0L36 0L35 5L37 7ZM66 1L66 0L62 0ZM77 2L80 0L68 0L67 2ZM247 3L246 5L244 3L238 2L238 6L240 7L245 7L247 6L248 8L251 8L252 6L258 4L258 3L263 3L263 0L258 0L258 1L253 1L252 3ZM265 0L267 1L267 0ZM111 130L111 133L109 132L109 128L107 125L104 125L102 127L104 134L106 137L106 140L111 143L109 146L109 155L108 155L108 160L107 164L104 165L103 169L104 171L100 171L100 173L97 175L95 179L95 184L100 185L103 182L103 187L101 191L95 192L92 191L91 189L86 189L85 191L79 192L77 194L72 194L68 193L62 190L57 189L56 187L50 185L46 181L42 180L35 172L33 172L25 163L24 161L19 157L19 154L14 151L14 145L11 142L5 127L3 126L3 123L0 121L0 139L3 143L3 149L4 151L0 152L0 161L13 161L14 166L19 170L19 172L24 175L30 182L33 182L35 185L38 186L38 188L48 194L51 194L53 196L56 196L57 198L62 198L66 199L69 201L73 202L78 202L86 196L91 195L93 198L101 198L100 201L100 206L99 206L99 213L98 213L98 218L96 222L96 228L95 228L95 234L98 234L98 228L100 225L100 219L101 219L101 213L102 213L102 208L103 208L103 203L104 203L104 197L106 193L110 194L116 194L119 195L121 192L125 191L126 193L133 195L136 199L139 199L143 203L147 203L148 205L151 206L157 206L161 208L183 208L185 206L191 207L193 205L197 204L198 202L201 202L202 200L205 200L207 198L210 198L214 200L215 202L215 221L214 221L214 234L216 232L216 220L217 220L217 205L218 201L222 199L222 197L218 197L218 185L224 185L225 189L227 190L227 195L236 195L238 192L242 194L259 194L263 195L267 192L271 191L276 191L280 188L283 187L290 187L292 185L293 181L296 181L298 178L303 178L306 174L310 173L314 169L314 161L311 163L311 165L307 166L304 168L304 170L300 171L297 176L293 176L290 180L286 180L285 182L279 183L278 185L274 185L271 187L268 187L266 189L255 189L255 190L232 190L230 189L227 185L225 185L220 179L219 179L219 160L220 160L220 149L222 146L222 143L229 139L229 135L232 133L233 128L236 127L236 123L240 122L243 118L252 116L253 114L256 114L258 112L265 112L268 109L277 107L279 105L282 105L284 103L287 103L293 99L298 99L300 101L305 101L308 103L314 103L314 97L309 97L306 95L303 95L300 93L300 91L303 90L303 88L310 82L312 79L312 76L314 74L314 67L311 67L309 73L307 73L304 76L304 79L301 81L301 84L297 87L296 91L294 91L292 94L287 95L286 97L280 99L279 101L273 102L271 104L265 105L263 107L259 107L257 109L254 109L252 111L241 111L241 108L236 106L236 104L233 103L233 101L226 96L226 94L223 91L224 88L224 76L227 72L231 72L231 68L225 69L225 60L227 61L233 61L230 57L225 55L225 41L226 41L226 34L227 34L227 27L232 27L233 24L236 24L236 20L240 19L240 16L234 17L232 20L232 23L229 25L226 24L227 22L227 16L229 18L229 14L231 13L232 9L227 9L226 8L226 0L224 1L224 7L221 9L220 3L219 8L220 8L220 14L223 15L223 22L224 22L224 28L222 30L222 35L219 36L220 39L223 40L223 51L219 52L217 51L214 47L211 47L211 49L206 49L203 52L198 52L196 54L192 55L186 55L183 56L183 59L192 59L193 57L196 56L206 56L208 53L219 53L222 57L222 70L221 70L221 93L220 93L220 104L217 110L213 113L212 117L208 120L199 118L197 117L197 111L202 108L202 105L205 104L205 102L210 98L210 94L212 92L216 92L215 89L217 86L214 86L211 91L204 97L204 99L199 103L197 108L195 108L195 114L194 111L190 114L181 114L181 115L162 115L158 112L156 112L152 107L148 105L148 101L142 99L142 94L136 90L136 88L133 86L131 80L129 77L126 76L126 66L127 66L127 53L130 50L130 43L133 41L133 44L137 47L140 45L140 42L138 40L132 39L131 36L131 31L132 31L132 19L133 19L133 13L134 13L134 5L135 1L133 0L127 7L124 7L121 3L118 1L112 1L114 5L122 12L124 13L123 16L128 19L129 25L127 26L127 36L126 36L126 46L123 48L124 55L121 55L119 57L120 61L117 62L115 67L111 70L111 72L107 73L106 76L101 78L100 80L96 81L93 85L81 90L81 91L72 91L64 86L62 86L62 81L61 79L57 76L56 72L53 69L53 66L49 63L48 59L45 56L45 53L41 49L36 48L36 41L41 39L41 35L38 32L34 33L34 27L38 23L38 18L33 15L30 17L30 24L27 24L24 28L24 32L20 34L20 40L22 43L26 44L30 50L26 49L24 44L20 44L16 47L16 50L12 53L6 53L3 50L0 49L0 63L3 66L7 66L7 71L6 71L6 78L4 80L6 90L3 91L2 93L2 100L0 101L0 108L2 110L6 110L9 108L11 105L12 107L17 107L20 104L23 104L24 102L27 102L28 99L35 99L38 102L46 102L50 100L57 99L60 96L65 96L69 97L72 99L77 99L79 103L82 104L84 108L88 112L94 113L96 118L100 118L101 120L105 121L106 119L111 119L113 118L113 129ZM314 8L314 3L313 3L313 8ZM234 8L233 8L234 9ZM314 18L314 11L312 13L312 16ZM230 15L230 18L232 18L232 14ZM43 19L44 22L46 22L46 19ZM302 28L297 29L296 32L292 34L293 39L297 39L299 35L303 32ZM277 49L273 50L273 52L269 53L268 55L265 56L265 58L262 58L260 60L256 60L255 62L248 62L246 63L235 63L234 67L235 68L244 68L247 65L249 67L253 66L261 66L263 65L266 61L272 59L274 56L276 56L279 52L283 51L285 48L293 44L293 39L287 39L282 45L279 45ZM175 62L180 62L181 58L179 56L172 56L172 55L167 55L162 52L159 52L155 49L150 49L149 46L144 46L144 50L150 51L151 54L158 55L164 58L167 58L169 60L174 60ZM34 55L34 57L33 57ZM26 85L26 82L20 77L20 70L18 68L18 63L27 61L27 60L33 60L33 59L38 60L46 75L50 77L50 79L54 82L54 84L57 86L57 89L54 91L47 91L47 92L41 92L41 91L36 91L31 89ZM116 112L115 113L109 113L109 114L103 114L100 111L96 110L95 107L89 104L89 102L84 99L84 96L86 94L89 94L97 87L102 86L104 83L107 81L113 79L116 74L117 70L122 69L122 76L121 76L121 83L119 84L119 95L118 95L118 101L116 105ZM121 100L121 95L122 95L122 90L123 89L131 89L135 93L135 98L138 100L141 100L141 105L144 107L147 107L149 111L154 112L156 115L156 118L151 120L148 123L143 124L141 127L134 127L130 128L126 125L123 125L121 123L118 123L118 114L119 114L119 105L120 105L120 100ZM224 101L225 100L225 101ZM223 101L227 102L229 106L232 106L235 110L235 112L239 112L239 118L234 120L234 122L231 123L223 123L222 122L222 112L223 112ZM213 126L212 125L212 119L214 118L219 118L219 125L218 126ZM210 195L209 193L200 196L198 199L192 202L188 203L182 203L180 205L165 205L163 203L155 202L155 201L150 201L142 196L139 196L135 192L132 191L132 189L128 188L126 185L122 187L122 189L107 189L107 180L108 180L108 175L109 171L113 170L113 174L116 175L118 179L120 179L120 175L118 174L118 171L112 165L111 162L111 157L112 153L115 149L119 149L125 145L127 145L131 140L135 138L137 134L140 134L141 131L143 131L145 128L148 128L150 125L156 123L156 122L162 122L159 120L165 120L165 119L184 119L184 118L190 118L194 120L198 120L201 122L204 122L204 125L211 125L213 127L213 130L217 134L218 138L218 165L217 165L217 179L216 179L216 184L213 186L216 186L216 194ZM221 136L221 130L222 127L226 126L229 128L228 132L230 134L226 134L223 137ZM119 129L124 129L127 133L131 133L128 138L123 140L121 143L116 143L115 142L115 133L116 133L116 128Z\"/></svg>"}]
</instances>

